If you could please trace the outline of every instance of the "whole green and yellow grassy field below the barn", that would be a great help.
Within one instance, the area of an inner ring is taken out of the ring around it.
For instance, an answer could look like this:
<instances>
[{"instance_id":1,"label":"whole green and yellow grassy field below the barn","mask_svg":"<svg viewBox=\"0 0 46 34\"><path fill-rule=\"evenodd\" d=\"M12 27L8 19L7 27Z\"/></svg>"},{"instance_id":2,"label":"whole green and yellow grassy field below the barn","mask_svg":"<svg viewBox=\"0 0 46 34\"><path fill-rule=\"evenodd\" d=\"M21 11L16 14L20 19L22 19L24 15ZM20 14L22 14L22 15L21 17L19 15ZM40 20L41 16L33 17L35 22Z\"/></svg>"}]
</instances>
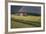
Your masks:
<instances>
[{"instance_id":1,"label":"whole green and yellow grassy field below the barn","mask_svg":"<svg viewBox=\"0 0 46 34\"><path fill-rule=\"evenodd\" d=\"M11 16L11 28L40 27L40 16Z\"/></svg>"}]
</instances>

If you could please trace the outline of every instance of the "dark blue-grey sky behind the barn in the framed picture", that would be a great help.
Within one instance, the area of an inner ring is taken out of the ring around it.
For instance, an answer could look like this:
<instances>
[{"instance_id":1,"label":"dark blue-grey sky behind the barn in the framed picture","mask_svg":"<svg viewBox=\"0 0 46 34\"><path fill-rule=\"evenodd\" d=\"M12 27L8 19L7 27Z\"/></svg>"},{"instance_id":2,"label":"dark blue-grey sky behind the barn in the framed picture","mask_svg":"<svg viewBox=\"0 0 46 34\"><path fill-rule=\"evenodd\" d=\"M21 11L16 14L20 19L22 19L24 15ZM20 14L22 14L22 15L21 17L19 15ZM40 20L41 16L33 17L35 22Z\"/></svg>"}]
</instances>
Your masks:
<instances>
[{"instance_id":1,"label":"dark blue-grey sky behind the barn in the framed picture","mask_svg":"<svg viewBox=\"0 0 46 34\"><path fill-rule=\"evenodd\" d=\"M21 10L21 8L23 8L22 11L26 10L28 13L41 14L41 7L37 7L37 6L15 6L15 5L11 5L11 12L18 12Z\"/></svg>"}]
</instances>

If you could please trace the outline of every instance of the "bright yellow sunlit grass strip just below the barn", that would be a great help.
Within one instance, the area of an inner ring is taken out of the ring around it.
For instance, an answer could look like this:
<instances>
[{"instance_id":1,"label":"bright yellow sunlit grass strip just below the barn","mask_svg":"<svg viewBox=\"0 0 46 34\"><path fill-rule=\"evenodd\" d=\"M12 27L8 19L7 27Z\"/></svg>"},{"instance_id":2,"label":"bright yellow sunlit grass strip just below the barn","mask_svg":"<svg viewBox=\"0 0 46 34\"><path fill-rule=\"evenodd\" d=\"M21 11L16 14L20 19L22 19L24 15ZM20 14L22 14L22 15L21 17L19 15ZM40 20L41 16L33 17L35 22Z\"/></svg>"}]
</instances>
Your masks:
<instances>
[{"instance_id":1,"label":"bright yellow sunlit grass strip just below the barn","mask_svg":"<svg viewBox=\"0 0 46 34\"><path fill-rule=\"evenodd\" d=\"M40 20L40 16L13 16L13 19L21 19L21 20L28 20L28 21L38 21Z\"/></svg>"}]
</instances>

